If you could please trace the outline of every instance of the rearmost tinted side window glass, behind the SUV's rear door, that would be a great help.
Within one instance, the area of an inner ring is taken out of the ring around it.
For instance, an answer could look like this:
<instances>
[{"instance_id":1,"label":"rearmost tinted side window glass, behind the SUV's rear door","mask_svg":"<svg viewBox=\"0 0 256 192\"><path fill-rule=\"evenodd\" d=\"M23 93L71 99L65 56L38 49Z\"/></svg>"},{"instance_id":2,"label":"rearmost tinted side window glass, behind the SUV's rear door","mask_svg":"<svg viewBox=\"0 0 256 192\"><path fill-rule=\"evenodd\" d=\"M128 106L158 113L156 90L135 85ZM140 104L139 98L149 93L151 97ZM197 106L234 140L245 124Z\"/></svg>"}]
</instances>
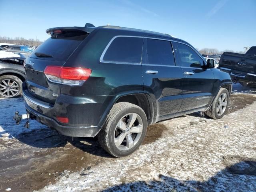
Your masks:
<instances>
[{"instance_id":1,"label":"rearmost tinted side window glass, behind the SUV's rear door","mask_svg":"<svg viewBox=\"0 0 256 192\"><path fill-rule=\"evenodd\" d=\"M115 38L103 60L114 62L140 63L143 38L117 37Z\"/></svg>"}]
</instances>

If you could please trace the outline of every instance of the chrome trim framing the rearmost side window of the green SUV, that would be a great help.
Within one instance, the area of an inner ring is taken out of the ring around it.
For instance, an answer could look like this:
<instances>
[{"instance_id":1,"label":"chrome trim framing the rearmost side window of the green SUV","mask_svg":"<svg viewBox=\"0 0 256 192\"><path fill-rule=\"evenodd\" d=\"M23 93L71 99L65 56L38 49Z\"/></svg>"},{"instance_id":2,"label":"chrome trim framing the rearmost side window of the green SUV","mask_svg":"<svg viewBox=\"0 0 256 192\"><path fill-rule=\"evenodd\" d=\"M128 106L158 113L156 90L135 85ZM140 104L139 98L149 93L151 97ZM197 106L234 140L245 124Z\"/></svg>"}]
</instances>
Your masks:
<instances>
[{"instance_id":1,"label":"chrome trim framing the rearmost side window of the green SUV","mask_svg":"<svg viewBox=\"0 0 256 192\"><path fill-rule=\"evenodd\" d=\"M107 44L106 48L104 49L104 51L102 52L101 56L100 56L100 62L101 63L115 63L115 64L128 64L128 65L141 65L141 59L140 59L140 62L139 63L132 63L132 62L119 62L119 61L106 61L106 60L103 60L110 44L118 37L133 37L133 38L143 38L142 36L130 36L130 35L117 35L117 36L114 36L110 42ZM143 42L142 42L142 49L143 49ZM142 49L141 49L141 57L142 57Z\"/></svg>"}]
</instances>

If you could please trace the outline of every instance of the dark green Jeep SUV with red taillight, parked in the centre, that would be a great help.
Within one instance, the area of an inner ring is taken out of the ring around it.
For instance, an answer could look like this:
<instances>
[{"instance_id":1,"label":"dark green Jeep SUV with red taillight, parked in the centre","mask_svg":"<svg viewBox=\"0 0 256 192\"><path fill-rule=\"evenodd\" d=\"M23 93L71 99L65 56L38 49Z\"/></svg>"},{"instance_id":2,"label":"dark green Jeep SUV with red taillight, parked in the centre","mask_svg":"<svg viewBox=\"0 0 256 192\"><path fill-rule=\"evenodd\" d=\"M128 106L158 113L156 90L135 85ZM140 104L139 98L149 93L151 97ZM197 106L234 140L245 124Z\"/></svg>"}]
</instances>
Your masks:
<instances>
[{"instance_id":1,"label":"dark green Jeep SUV with red taillight, parked in the centre","mask_svg":"<svg viewBox=\"0 0 256 192\"><path fill-rule=\"evenodd\" d=\"M147 126L204 111L225 114L232 82L187 42L123 28L58 27L26 59L30 118L73 137L98 136L116 157L134 152Z\"/></svg>"}]
</instances>

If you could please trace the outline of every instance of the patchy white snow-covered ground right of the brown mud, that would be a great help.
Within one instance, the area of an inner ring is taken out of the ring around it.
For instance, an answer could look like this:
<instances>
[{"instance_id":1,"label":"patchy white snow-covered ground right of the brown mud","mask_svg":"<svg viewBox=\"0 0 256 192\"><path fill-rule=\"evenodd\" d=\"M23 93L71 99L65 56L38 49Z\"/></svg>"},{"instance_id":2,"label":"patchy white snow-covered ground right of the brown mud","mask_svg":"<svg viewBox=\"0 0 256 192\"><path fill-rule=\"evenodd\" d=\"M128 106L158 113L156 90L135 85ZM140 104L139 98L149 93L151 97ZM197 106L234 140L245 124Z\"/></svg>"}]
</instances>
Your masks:
<instances>
[{"instance_id":1,"label":"patchy white snow-covered ground right of the brown mud","mask_svg":"<svg viewBox=\"0 0 256 192\"><path fill-rule=\"evenodd\" d=\"M221 120L186 115L161 122L168 129L156 142L41 191L255 191L255 109L256 102Z\"/></svg>"}]
</instances>

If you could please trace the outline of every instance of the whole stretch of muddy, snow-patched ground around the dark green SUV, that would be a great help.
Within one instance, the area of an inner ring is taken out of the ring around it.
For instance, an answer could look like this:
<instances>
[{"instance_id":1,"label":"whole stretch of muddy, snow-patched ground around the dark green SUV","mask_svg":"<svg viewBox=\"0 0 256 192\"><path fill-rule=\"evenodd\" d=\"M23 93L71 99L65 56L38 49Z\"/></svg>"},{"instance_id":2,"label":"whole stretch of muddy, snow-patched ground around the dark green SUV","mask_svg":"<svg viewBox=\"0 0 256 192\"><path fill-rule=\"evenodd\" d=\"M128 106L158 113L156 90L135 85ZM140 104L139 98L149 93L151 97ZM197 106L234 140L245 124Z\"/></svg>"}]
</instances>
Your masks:
<instances>
[{"instance_id":1,"label":"whole stretch of muddy, snow-patched ground around the dark green SUV","mask_svg":"<svg viewBox=\"0 0 256 192\"><path fill-rule=\"evenodd\" d=\"M0 100L0 191L256 190L254 89L234 85L221 120L194 113L148 126L126 158L113 158L96 138L16 126L10 115L22 98L10 101Z\"/></svg>"}]
</instances>

